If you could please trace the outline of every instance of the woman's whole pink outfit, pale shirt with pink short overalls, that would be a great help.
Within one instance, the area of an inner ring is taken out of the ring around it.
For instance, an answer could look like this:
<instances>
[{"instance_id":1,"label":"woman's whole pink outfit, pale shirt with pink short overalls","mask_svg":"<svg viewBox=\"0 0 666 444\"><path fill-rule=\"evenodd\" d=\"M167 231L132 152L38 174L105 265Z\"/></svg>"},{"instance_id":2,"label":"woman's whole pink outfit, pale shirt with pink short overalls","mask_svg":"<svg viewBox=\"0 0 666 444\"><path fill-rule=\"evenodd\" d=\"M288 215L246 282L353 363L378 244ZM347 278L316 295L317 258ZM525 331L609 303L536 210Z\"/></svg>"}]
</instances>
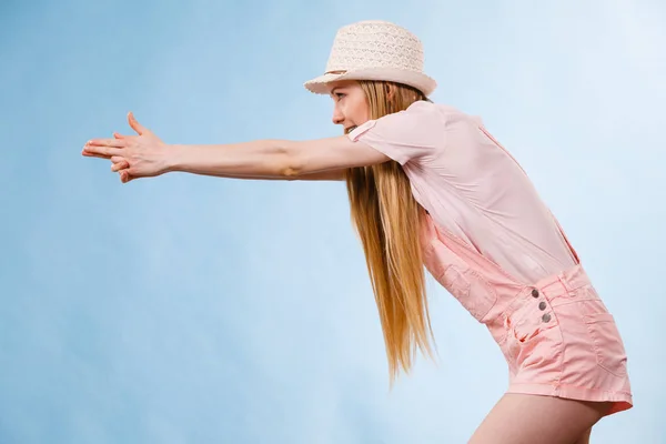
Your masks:
<instances>
[{"instance_id":1,"label":"woman's whole pink outfit, pale shirt with pink short overalls","mask_svg":"<svg viewBox=\"0 0 666 444\"><path fill-rule=\"evenodd\" d=\"M428 216L424 263L508 364L507 393L630 408L614 317L525 172L478 118L430 102L349 134L400 162Z\"/></svg>"}]
</instances>

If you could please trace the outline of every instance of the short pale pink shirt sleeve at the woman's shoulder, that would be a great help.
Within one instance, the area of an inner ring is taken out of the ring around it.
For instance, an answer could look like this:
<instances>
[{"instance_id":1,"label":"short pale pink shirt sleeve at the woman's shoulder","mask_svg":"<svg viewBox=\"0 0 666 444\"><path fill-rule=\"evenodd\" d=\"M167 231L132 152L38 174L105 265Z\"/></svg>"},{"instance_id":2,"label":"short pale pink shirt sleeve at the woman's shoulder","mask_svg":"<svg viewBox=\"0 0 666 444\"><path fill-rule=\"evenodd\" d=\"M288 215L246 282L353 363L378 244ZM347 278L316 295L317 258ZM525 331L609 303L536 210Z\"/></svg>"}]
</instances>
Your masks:
<instances>
[{"instance_id":1,"label":"short pale pink shirt sleeve at the woman's shoulder","mask_svg":"<svg viewBox=\"0 0 666 444\"><path fill-rule=\"evenodd\" d=\"M401 165L434 157L444 145L444 115L436 104L414 102L405 111L369 120L347 137L384 153Z\"/></svg>"}]
</instances>

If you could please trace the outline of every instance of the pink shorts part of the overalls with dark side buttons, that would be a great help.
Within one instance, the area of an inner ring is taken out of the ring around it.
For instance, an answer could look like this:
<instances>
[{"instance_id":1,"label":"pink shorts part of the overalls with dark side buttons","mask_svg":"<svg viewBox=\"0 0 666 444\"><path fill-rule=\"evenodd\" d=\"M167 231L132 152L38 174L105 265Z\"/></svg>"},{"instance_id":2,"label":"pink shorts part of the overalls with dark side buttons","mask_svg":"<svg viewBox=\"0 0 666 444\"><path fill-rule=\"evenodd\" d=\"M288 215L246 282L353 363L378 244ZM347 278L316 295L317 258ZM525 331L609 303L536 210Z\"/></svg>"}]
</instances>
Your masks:
<instances>
[{"instance_id":1,"label":"pink shorts part of the overalls with dark side buttons","mask_svg":"<svg viewBox=\"0 0 666 444\"><path fill-rule=\"evenodd\" d=\"M509 367L507 393L609 401L632 407L625 349L583 268L539 281L487 323Z\"/></svg>"}]
</instances>

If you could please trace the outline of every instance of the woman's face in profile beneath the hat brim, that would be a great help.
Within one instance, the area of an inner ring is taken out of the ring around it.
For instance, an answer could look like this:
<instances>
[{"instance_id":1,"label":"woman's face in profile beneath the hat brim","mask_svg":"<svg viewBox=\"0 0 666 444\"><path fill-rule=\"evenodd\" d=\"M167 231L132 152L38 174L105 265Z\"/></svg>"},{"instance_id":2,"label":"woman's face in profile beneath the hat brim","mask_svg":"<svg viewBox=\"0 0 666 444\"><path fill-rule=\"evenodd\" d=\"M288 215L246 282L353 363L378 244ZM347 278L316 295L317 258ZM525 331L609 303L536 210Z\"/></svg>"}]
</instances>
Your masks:
<instances>
[{"instance_id":1,"label":"woman's face in profile beneath the hat brim","mask_svg":"<svg viewBox=\"0 0 666 444\"><path fill-rule=\"evenodd\" d=\"M359 82L332 82L329 91L334 103L333 123L343 125L345 134L370 120L370 107Z\"/></svg>"}]
</instances>

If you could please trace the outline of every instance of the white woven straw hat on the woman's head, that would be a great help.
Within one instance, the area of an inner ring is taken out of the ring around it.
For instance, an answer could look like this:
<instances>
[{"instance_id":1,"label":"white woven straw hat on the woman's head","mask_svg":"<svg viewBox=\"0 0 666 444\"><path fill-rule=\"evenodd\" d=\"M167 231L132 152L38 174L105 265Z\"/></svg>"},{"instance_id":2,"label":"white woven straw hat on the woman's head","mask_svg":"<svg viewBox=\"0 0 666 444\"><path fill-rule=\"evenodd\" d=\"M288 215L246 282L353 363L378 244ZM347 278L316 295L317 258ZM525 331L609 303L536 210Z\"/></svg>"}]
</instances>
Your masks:
<instances>
[{"instance_id":1,"label":"white woven straw hat on the woman's head","mask_svg":"<svg viewBox=\"0 0 666 444\"><path fill-rule=\"evenodd\" d=\"M426 97L437 82L423 72L423 44L405 28L382 20L366 20L337 30L326 72L305 82L317 94L336 80L385 80L416 88Z\"/></svg>"}]
</instances>

